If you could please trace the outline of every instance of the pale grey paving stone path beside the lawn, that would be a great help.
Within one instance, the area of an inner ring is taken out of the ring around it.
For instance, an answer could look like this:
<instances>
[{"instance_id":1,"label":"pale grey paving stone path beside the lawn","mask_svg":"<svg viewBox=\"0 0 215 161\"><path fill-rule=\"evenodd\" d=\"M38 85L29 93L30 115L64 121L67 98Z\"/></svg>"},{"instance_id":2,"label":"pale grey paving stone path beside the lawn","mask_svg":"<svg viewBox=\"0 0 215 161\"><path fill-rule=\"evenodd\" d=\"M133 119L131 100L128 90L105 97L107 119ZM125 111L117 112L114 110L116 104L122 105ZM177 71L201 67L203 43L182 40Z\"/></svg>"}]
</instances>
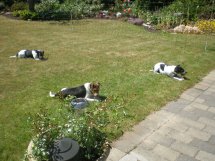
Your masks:
<instances>
[{"instance_id":1,"label":"pale grey paving stone path beside the lawn","mask_svg":"<svg viewBox=\"0 0 215 161\"><path fill-rule=\"evenodd\" d=\"M215 70L114 142L106 161L215 161Z\"/></svg>"}]
</instances>

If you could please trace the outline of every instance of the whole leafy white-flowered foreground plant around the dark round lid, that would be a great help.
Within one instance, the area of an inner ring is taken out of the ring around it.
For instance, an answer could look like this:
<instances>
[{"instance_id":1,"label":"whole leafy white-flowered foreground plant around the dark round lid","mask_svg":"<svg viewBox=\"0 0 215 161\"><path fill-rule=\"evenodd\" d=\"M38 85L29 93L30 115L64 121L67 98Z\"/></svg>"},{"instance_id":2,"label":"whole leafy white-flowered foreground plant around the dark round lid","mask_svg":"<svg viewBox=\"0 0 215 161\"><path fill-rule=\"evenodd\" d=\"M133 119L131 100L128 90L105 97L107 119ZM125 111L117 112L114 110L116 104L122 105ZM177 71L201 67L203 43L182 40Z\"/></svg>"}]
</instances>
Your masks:
<instances>
[{"instance_id":1,"label":"whole leafy white-flowered foreground plant around the dark round lid","mask_svg":"<svg viewBox=\"0 0 215 161\"><path fill-rule=\"evenodd\" d=\"M93 113L88 111L76 114L74 111L69 113L67 111L67 114L62 112L62 116L56 118L47 110L41 109L39 113L31 116L33 133L36 134L32 139L34 144L32 147L33 157L37 160L50 160L50 150L54 141L62 137L70 137L80 144L80 156L83 160L97 159L107 144L107 136L97 128L98 125L94 124L95 119L97 119L95 113L104 116L102 112L96 110ZM66 120L62 121L60 119L62 117ZM100 117L100 119L106 118Z\"/></svg>"}]
</instances>

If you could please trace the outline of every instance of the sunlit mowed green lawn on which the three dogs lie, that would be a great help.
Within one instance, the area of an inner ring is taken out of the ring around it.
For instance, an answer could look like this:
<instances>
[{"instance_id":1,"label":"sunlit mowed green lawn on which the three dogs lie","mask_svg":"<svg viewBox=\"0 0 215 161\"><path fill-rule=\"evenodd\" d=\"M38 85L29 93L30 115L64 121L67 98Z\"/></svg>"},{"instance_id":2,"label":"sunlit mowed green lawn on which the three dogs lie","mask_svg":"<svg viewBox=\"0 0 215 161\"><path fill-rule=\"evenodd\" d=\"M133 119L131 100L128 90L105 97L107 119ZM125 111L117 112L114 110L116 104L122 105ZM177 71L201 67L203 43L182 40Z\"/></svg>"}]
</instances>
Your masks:
<instances>
[{"instance_id":1,"label":"sunlit mowed green lawn on which the three dogs lie","mask_svg":"<svg viewBox=\"0 0 215 161\"><path fill-rule=\"evenodd\" d=\"M21 49L43 49L48 60L9 59ZM190 80L150 72L160 61L181 64ZM119 128L109 128L114 140L199 82L214 62L211 35L150 33L114 20L32 22L0 16L0 160L23 158L33 135L29 113L57 112L62 106L49 98L50 90L99 81L101 95L126 100L128 115L118 120Z\"/></svg>"}]
</instances>

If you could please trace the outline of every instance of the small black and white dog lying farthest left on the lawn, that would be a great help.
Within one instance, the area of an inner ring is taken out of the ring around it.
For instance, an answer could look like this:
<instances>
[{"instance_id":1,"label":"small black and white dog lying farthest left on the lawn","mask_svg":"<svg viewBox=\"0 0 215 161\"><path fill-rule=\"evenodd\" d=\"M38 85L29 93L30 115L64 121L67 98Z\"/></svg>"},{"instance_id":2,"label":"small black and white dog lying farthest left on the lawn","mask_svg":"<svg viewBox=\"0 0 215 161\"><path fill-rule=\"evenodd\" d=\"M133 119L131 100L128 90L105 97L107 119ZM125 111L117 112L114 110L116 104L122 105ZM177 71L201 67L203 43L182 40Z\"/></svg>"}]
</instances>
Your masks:
<instances>
[{"instance_id":1,"label":"small black and white dog lying farthest left on the lawn","mask_svg":"<svg viewBox=\"0 0 215 161\"><path fill-rule=\"evenodd\" d=\"M16 55L10 56L10 58L33 58L35 60L44 59L43 50L20 50Z\"/></svg>"}]
</instances>

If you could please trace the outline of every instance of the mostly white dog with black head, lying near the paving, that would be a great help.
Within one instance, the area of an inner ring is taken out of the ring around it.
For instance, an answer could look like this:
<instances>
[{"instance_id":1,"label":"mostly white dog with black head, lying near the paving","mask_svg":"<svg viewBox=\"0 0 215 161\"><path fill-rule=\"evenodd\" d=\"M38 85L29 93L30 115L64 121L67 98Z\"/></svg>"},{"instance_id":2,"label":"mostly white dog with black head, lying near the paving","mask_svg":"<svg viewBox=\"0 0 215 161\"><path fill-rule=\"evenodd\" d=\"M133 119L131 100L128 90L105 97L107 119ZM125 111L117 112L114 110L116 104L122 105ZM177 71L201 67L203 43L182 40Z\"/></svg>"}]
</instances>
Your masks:
<instances>
[{"instance_id":1,"label":"mostly white dog with black head, lying near the paving","mask_svg":"<svg viewBox=\"0 0 215 161\"><path fill-rule=\"evenodd\" d=\"M187 73L180 65L167 65L163 62L154 65L153 70L157 74L165 74L171 78L182 81L187 79L184 75Z\"/></svg>"}]
</instances>

